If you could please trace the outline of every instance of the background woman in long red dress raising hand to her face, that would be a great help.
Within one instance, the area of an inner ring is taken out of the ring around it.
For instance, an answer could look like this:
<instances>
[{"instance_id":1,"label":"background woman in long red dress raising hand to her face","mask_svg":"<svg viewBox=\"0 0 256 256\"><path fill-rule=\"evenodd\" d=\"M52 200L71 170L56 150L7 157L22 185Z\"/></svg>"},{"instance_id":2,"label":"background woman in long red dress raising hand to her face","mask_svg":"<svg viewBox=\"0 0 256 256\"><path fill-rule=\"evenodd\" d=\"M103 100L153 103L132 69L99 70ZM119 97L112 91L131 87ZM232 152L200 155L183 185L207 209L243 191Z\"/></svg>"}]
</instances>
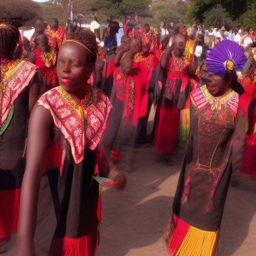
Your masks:
<instances>
[{"instance_id":1,"label":"background woman in long red dress raising hand to her face","mask_svg":"<svg viewBox=\"0 0 256 256\"><path fill-rule=\"evenodd\" d=\"M191 61L190 54L184 54L186 37L176 34L172 44L161 57L161 68L167 71L167 80L161 91L159 117L155 132L155 148L159 153L157 161L171 164L171 154L177 139L179 110L188 97L188 75L197 68L197 59Z\"/></svg>"}]
</instances>

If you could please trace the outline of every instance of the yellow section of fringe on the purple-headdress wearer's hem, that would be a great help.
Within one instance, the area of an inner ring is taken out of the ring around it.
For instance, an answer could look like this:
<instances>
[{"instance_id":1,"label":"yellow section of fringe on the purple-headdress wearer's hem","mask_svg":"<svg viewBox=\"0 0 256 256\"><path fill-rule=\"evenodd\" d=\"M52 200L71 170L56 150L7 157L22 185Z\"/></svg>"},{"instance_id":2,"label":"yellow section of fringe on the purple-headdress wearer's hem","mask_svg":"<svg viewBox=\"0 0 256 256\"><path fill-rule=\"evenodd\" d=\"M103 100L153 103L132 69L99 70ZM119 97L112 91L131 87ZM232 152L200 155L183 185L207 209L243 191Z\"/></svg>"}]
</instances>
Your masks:
<instances>
[{"instance_id":1,"label":"yellow section of fringe on the purple-headdress wearer's hem","mask_svg":"<svg viewBox=\"0 0 256 256\"><path fill-rule=\"evenodd\" d=\"M190 226L176 256L214 256L217 251L219 230L203 231Z\"/></svg>"}]
</instances>

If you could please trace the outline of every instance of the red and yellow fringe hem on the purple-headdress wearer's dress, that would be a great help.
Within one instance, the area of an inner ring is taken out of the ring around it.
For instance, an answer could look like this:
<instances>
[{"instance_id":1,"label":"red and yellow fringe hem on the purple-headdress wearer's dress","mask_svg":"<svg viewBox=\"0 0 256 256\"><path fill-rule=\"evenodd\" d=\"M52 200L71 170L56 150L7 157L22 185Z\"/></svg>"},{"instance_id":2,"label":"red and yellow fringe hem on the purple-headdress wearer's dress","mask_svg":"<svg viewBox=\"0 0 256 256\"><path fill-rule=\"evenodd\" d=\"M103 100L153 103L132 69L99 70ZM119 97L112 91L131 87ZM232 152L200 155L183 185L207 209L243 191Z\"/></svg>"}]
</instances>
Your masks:
<instances>
[{"instance_id":1,"label":"red and yellow fringe hem on the purple-headdress wearer's dress","mask_svg":"<svg viewBox=\"0 0 256 256\"><path fill-rule=\"evenodd\" d=\"M219 230L204 231L178 218L167 252L171 256L214 256L218 240Z\"/></svg>"}]
</instances>

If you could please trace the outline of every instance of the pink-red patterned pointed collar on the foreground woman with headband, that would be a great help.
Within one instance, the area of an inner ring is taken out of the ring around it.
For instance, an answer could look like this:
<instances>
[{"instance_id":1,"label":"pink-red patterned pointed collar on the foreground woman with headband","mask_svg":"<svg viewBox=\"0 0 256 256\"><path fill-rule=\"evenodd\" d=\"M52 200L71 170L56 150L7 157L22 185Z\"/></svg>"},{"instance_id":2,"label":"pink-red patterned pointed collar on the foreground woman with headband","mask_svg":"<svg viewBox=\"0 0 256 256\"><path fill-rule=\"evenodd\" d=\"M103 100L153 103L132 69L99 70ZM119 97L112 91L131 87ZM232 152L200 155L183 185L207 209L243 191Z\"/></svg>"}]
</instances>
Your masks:
<instances>
[{"instance_id":1,"label":"pink-red patterned pointed collar on the foreground woman with headband","mask_svg":"<svg viewBox=\"0 0 256 256\"><path fill-rule=\"evenodd\" d=\"M88 86L80 105L61 86L44 93L37 104L51 112L55 125L71 145L75 163L83 160L84 147L96 148L111 109L107 96L94 86ZM84 118L88 124L85 131Z\"/></svg>"}]
</instances>

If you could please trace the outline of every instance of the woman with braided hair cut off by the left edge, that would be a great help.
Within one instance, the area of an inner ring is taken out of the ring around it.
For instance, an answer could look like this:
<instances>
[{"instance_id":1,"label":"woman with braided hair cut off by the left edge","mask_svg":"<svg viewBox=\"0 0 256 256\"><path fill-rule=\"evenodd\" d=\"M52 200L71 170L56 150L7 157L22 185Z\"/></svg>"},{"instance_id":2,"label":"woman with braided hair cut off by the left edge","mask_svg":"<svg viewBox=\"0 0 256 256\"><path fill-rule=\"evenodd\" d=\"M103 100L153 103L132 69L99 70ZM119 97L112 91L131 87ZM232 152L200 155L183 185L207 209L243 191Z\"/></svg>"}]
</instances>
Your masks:
<instances>
[{"instance_id":1,"label":"woman with braided hair cut off by the left edge","mask_svg":"<svg viewBox=\"0 0 256 256\"><path fill-rule=\"evenodd\" d=\"M13 59L18 39L18 29L0 21L0 247L17 230L27 118L39 94L36 66Z\"/></svg>"}]
</instances>

